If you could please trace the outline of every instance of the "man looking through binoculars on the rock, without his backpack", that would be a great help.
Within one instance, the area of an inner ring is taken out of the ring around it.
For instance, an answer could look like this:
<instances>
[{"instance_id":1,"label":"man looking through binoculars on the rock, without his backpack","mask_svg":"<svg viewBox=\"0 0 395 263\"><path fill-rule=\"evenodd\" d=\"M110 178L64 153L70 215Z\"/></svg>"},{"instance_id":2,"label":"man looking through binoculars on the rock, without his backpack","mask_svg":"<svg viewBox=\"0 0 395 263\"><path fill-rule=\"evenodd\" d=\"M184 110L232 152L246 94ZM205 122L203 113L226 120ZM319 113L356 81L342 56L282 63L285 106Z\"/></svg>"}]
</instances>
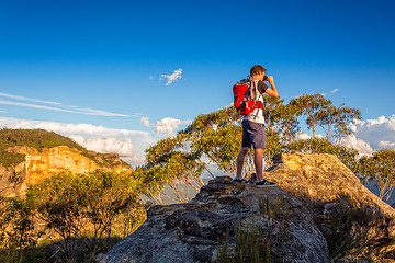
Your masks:
<instances>
[{"instance_id":1,"label":"man looking through binoculars on the rock, without his backpack","mask_svg":"<svg viewBox=\"0 0 395 263\"><path fill-rule=\"evenodd\" d=\"M250 70L250 89L259 91L258 100L263 103L263 93L267 93L273 98L278 98L279 93L274 85L273 76L267 76L266 69L260 65L255 65ZM269 82L270 88L264 83ZM264 132L264 117L262 108L255 108L250 114L245 115L242 118L242 140L241 149L237 156L236 165L237 173L235 182L245 182L241 176L241 171L245 162L245 158L249 148L253 148L253 163L257 174L256 185L271 185L269 181L263 179L263 157L262 151L266 149L266 132Z\"/></svg>"}]
</instances>

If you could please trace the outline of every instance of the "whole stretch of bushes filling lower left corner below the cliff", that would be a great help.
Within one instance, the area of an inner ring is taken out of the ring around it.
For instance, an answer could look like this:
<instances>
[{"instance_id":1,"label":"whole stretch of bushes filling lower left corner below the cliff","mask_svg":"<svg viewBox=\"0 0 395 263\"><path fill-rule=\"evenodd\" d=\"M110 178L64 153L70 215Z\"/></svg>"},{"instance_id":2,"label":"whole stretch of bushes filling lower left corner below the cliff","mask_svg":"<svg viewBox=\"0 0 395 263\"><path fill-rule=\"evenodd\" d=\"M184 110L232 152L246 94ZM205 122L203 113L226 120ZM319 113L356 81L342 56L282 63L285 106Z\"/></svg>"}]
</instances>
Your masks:
<instances>
[{"instance_id":1,"label":"whole stretch of bushes filling lower left corner below the cliff","mask_svg":"<svg viewBox=\"0 0 395 263\"><path fill-rule=\"evenodd\" d=\"M91 262L144 220L131 174L56 174L32 185L26 198L1 198L1 262ZM56 248L56 249L55 249Z\"/></svg>"}]
</instances>

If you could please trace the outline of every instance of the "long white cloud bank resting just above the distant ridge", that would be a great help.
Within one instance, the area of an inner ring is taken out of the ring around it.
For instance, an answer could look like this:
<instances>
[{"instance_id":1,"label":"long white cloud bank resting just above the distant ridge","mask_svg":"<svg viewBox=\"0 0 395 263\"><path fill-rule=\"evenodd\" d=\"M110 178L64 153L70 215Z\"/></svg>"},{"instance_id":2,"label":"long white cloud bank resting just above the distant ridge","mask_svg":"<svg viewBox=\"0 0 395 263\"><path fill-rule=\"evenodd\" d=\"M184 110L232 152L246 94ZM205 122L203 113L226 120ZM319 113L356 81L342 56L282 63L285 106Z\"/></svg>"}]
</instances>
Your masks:
<instances>
[{"instance_id":1,"label":"long white cloud bank resting just above the distant ridge","mask_svg":"<svg viewBox=\"0 0 395 263\"><path fill-rule=\"evenodd\" d=\"M114 129L92 124L67 124L0 117L1 128L42 128L70 137L88 150L101 153L119 153L132 165L142 165L145 149L156 144L149 133Z\"/></svg>"}]
</instances>

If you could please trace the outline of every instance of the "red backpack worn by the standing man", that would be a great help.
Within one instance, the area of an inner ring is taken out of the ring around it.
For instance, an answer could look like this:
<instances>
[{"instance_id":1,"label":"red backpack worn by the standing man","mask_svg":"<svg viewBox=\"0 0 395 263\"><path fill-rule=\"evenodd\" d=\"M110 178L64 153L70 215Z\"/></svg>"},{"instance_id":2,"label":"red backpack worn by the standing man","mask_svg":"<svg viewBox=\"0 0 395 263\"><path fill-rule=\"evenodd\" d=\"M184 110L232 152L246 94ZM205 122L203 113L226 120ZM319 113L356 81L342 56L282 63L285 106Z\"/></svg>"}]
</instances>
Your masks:
<instances>
[{"instance_id":1,"label":"red backpack worn by the standing man","mask_svg":"<svg viewBox=\"0 0 395 263\"><path fill-rule=\"evenodd\" d=\"M256 108L263 108L262 102L258 101L258 91L251 89L251 81L244 79L237 82L233 92L234 106L241 115L248 115Z\"/></svg>"}]
</instances>

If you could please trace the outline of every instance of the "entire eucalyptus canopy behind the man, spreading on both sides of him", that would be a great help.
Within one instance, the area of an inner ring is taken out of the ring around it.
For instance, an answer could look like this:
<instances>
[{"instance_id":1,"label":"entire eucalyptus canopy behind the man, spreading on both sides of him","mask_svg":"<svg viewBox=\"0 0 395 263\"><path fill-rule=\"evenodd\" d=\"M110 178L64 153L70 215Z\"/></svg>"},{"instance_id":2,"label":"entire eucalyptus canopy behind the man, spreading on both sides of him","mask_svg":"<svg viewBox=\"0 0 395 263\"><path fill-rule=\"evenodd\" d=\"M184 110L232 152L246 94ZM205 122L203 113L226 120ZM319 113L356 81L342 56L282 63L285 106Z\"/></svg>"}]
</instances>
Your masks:
<instances>
[{"instance_id":1,"label":"entire eucalyptus canopy behind the man, spreading on both sides of him","mask_svg":"<svg viewBox=\"0 0 395 263\"><path fill-rule=\"evenodd\" d=\"M361 119L358 108L345 104L335 106L323 94L316 93L303 94L287 104L279 98L264 95L263 111L267 123L264 169L271 165L273 156L281 152L332 153L356 173L374 180L381 191L388 191L390 185L394 184L393 180L388 181L392 184L381 181L390 174L390 170L379 172L377 167L382 164L369 164L369 157L360 160L358 150L341 145L341 140L352 134L350 125ZM155 202L162 203L160 194L163 195L162 190L169 186L176 196L174 202L188 202L191 197L189 190L203 185L202 173L205 171L213 175L211 167L235 176L236 157L241 144L241 121L242 116L230 105L199 115L176 136L159 140L148 148L146 163L134 172L140 178L145 193ZM325 137L317 135L318 128L321 128ZM300 132L312 133L307 139L300 139ZM245 173L255 169L252 157L252 151L246 157ZM366 165L365 170L361 168L363 165ZM375 167L366 170L369 165ZM391 168L394 169L394 164ZM169 197L168 194L165 196Z\"/></svg>"}]
</instances>

